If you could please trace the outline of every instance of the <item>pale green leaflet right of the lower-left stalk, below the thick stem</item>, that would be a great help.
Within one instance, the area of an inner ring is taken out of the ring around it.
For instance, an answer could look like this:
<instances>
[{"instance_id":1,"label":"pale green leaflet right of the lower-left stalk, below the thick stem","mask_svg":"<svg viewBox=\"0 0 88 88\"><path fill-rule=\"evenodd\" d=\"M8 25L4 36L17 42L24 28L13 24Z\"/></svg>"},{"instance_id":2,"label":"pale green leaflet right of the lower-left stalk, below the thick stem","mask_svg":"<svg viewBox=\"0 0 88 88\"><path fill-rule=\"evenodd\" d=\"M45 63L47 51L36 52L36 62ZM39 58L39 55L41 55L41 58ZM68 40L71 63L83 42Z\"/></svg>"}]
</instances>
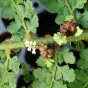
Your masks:
<instances>
[{"instance_id":1,"label":"pale green leaflet right of the lower-left stalk, below the thick stem","mask_svg":"<svg viewBox=\"0 0 88 88\"><path fill-rule=\"evenodd\" d=\"M9 69L11 69L15 74L17 74L19 71L19 66L20 66L20 63L18 61L18 58L16 56L13 57L9 64Z\"/></svg>"}]
</instances>

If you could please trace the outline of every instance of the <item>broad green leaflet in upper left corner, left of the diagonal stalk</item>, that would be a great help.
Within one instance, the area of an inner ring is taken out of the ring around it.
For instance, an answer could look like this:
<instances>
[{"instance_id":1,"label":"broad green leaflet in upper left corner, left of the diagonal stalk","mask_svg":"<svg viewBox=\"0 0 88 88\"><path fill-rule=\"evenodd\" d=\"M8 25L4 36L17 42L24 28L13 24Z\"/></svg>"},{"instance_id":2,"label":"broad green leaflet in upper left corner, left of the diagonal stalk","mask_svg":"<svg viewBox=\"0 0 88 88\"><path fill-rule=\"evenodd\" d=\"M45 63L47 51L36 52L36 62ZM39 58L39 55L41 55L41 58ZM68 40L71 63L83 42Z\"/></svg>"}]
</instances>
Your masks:
<instances>
[{"instance_id":1,"label":"broad green leaflet in upper left corner, left of the diagonal stalk","mask_svg":"<svg viewBox=\"0 0 88 88\"><path fill-rule=\"evenodd\" d=\"M6 7L4 7L1 11L1 17L5 19L13 19L15 16L15 8L13 4L10 2L10 4Z\"/></svg>"}]
</instances>

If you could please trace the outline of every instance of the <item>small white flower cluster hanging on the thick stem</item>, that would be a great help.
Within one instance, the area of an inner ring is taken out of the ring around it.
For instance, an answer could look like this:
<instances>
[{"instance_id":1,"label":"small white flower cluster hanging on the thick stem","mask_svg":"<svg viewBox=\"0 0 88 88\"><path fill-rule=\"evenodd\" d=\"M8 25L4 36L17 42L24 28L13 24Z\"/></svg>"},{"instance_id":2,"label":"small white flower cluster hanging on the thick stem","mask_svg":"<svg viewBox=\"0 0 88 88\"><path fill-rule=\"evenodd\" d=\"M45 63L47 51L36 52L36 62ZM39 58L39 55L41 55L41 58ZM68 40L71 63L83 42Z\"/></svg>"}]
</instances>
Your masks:
<instances>
[{"instance_id":1,"label":"small white flower cluster hanging on the thick stem","mask_svg":"<svg viewBox=\"0 0 88 88\"><path fill-rule=\"evenodd\" d=\"M27 47L28 51L31 51L32 54L36 54L36 41L28 41L27 39L25 40L25 46Z\"/></svg>"}]
</instances>

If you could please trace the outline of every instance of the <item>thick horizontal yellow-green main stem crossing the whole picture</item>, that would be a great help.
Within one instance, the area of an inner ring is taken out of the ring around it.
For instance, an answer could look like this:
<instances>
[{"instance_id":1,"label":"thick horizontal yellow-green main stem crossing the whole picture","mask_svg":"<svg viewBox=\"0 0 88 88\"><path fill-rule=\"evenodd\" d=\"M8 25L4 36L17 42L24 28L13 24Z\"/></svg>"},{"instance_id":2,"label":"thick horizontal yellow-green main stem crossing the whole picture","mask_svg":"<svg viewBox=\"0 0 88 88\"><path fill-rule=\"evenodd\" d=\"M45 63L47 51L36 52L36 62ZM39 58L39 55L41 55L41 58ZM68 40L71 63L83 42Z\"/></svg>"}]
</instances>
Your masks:
<instances>
[{"instance_id":1,"label":"thick horizontal yellow-green main stem crossing the whole picture","mask_svg":"<svg viewBox=\"0 0 88 88\"><path fill-rule=\"evenodd\" d=\"M88 32L84 32L82 33L80 36L75 37L75 36L69 36L67 37L67 42L77 42L80 40L86 40L88 39ZM30 41L36 41L37 45L39 45L40 43L55 43L55 41L53 40L52 36L46 36L43 38L34 38L31 39ZM18 48L25 48L25 44L24 42L16 42L16 43L9 43L9 44L0 44L0 50L6 50L6 49L18 49Z\"/></svg>"}]
</instances>

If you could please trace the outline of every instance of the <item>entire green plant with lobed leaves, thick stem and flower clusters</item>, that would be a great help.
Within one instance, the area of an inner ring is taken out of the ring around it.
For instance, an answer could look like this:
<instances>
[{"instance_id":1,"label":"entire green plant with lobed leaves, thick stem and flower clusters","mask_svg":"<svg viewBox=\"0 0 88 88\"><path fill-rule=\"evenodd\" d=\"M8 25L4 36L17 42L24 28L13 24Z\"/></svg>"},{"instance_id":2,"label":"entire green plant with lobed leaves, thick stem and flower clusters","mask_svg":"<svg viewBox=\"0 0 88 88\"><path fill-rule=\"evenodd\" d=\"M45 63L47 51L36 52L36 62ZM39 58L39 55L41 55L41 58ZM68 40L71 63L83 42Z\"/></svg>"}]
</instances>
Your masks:
<instances>
[{"instance_id":1,"label":"entire green plant with lobed leaves, thick stem and flower clusters","mask_svg":"<svg viewBox=\"0 0 88 88\"><path fill-rule=\"evenodd\" d=\"M88 48L82 41L88 39L87 0L40 2L46 6L47 11L57 13L55 22L61 28L54 36L36 38L32 35L36 33L39 24L30 0L0 0L1 18L13 20L7 27L7 31L12 34L11 38L0 43L0 88L16 88L20 63L17 56L11 57L11 51L17 52L21 48L27 48L32 54L36 54L36 49L41 52L36 61L39 67L32 69L32 75L25 64L22 64L24 80L27 83L32 81L29 88L87 88ZM84 12L80 13L79 9ZM68 32L69 35L63 35ZM71 42L75 43L79 58L69 48L61 48L61 45ZM53 46L49 48L48 44ZM74 64L76 68L71 67Z\"/></svg>"}]
</instances>

